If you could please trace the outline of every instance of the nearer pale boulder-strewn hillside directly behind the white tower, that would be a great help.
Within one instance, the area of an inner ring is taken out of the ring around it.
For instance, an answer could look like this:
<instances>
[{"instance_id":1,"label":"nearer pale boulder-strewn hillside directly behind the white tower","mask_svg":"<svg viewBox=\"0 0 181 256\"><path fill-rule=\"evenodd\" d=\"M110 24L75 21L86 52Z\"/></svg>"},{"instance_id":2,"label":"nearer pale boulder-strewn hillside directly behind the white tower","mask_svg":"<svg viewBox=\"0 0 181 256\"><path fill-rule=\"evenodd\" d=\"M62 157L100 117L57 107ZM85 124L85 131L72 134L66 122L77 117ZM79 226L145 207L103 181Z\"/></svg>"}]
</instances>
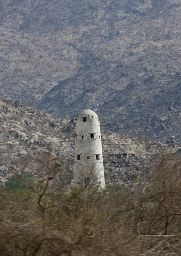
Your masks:
<instances>
[{"instance_id":1,"label":"nearer pale boulder-strewn hillside directly behind the white tower","mask_svg":"<svg viewBox=\"0 0 181 256\"><path fill-rule=\"evenodd\" d=\"M75 124L67 123L74 123L74 120L59 119L19 101L1 99L0 182L22 171L22 161L41 159L48 150L58 157L57 165L66 166L73 175ZM167 152L181 152L181 145L173 137L165 143L151 143L102 128L107 185L132 185L137 177L143 178L143 170L149 171L153 155L163 148Z\"/></svg>"}]
</instances>

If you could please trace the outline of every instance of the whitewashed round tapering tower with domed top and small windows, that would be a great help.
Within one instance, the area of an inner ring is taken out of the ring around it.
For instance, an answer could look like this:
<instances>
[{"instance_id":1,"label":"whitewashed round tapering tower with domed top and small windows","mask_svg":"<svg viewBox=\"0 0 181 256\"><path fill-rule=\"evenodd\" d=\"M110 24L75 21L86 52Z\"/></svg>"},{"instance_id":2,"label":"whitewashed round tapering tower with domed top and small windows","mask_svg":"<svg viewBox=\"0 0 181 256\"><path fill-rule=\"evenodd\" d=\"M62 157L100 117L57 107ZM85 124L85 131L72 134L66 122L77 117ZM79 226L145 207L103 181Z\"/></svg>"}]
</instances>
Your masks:
<instances>
[{"instance_id":1,"label":"whitewashed round tapering tower with domed top and small windows","mask_svg":"<svg viewBox=\"0 0 181 256\"><path fill-rule=\"evenodd\" d=\"M76 121L74 186L105 188L99 118L84 110Z\"/></svg>"}]
</instances>

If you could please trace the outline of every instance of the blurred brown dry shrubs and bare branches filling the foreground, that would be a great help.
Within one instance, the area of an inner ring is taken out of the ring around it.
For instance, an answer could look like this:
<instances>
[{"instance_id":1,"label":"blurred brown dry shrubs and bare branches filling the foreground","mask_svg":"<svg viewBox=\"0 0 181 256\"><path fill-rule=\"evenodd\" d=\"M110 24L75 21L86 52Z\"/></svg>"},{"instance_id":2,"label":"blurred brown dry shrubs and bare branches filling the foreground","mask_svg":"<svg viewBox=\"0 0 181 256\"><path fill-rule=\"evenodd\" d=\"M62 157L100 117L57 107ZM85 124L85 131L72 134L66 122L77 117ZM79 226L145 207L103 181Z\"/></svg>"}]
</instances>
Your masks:
<instances>
[{"instance_id":1,"label":"blurred brown dry shrubs and bare branches filling the foreground","mask_svg":"<svg viewBox=\"0 0 181 256\"><path fill-rule=\"evenodd\" d=\"M33 182L16 174L28 189L0 189L0 255L180 255L180 166L179 155L160 154L146 189L85 190L71 188L51 152L29 160Z\"/></svg>"}]
</instances>

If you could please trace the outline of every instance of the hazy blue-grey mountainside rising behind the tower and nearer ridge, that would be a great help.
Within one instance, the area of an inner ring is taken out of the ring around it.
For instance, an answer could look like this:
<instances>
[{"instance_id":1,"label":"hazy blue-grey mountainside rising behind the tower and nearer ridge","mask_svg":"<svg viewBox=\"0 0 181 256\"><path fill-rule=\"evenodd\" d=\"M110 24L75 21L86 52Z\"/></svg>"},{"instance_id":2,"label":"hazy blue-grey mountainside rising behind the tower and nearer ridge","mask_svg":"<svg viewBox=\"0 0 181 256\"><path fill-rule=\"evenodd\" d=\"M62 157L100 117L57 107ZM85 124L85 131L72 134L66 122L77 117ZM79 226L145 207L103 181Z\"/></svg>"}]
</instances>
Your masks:
<instances>
[{"instance_id":1,"label":"hazy blue-grey mountainside rising behind the tower and nearer ridge","mask_svg":"<svg viewBox=\"0 0 181 256\"><path fill-rule=\"evenodd\" d=\"M179 0L2 0L0 93L180 140L180 20Z\"/></svg>"}]
</instances>

